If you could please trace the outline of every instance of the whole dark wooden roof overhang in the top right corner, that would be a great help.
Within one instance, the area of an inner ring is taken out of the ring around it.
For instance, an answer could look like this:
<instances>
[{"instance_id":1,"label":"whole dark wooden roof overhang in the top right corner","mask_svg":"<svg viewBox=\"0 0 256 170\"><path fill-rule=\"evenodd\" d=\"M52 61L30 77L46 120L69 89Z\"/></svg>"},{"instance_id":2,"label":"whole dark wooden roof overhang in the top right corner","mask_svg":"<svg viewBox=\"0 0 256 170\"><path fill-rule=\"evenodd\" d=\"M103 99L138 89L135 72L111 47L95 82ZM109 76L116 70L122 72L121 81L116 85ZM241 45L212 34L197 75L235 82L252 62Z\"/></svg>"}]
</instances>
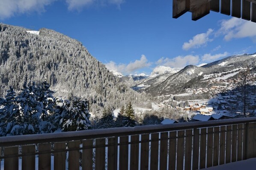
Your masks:
<instances>
[{"instance_id":1,"label":"whole dark wooden roof overhang in the top right corner","mask_svg":"<svg viewBox=\"0 0 256 170\"><path fill-rule=\"evenodd\" d=\"M173 0L173 18L192 12L198 20L210 11L256 22L256 0Z\"/></svg>"}]
</instances>

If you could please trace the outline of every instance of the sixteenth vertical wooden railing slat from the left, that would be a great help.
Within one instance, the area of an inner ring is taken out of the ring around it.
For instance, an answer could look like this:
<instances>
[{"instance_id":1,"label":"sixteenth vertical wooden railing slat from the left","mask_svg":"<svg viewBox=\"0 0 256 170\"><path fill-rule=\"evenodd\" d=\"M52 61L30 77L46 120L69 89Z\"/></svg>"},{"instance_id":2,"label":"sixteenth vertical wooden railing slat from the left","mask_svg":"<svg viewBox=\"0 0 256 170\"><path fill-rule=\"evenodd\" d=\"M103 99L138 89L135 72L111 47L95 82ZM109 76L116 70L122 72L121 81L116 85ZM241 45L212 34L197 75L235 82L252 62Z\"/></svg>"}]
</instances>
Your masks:
<instances>
[{"instance_id":1,"label":"sixteenth vertical wooden railing slat from the left","mask_svg":"<svg viewBox=\"0 0 256 170\"><path fill-rule=\"evenodd\" d=\"M191 170L192 130L186 130L185 141L185 170Z\"/></svg>"}]
</instances>

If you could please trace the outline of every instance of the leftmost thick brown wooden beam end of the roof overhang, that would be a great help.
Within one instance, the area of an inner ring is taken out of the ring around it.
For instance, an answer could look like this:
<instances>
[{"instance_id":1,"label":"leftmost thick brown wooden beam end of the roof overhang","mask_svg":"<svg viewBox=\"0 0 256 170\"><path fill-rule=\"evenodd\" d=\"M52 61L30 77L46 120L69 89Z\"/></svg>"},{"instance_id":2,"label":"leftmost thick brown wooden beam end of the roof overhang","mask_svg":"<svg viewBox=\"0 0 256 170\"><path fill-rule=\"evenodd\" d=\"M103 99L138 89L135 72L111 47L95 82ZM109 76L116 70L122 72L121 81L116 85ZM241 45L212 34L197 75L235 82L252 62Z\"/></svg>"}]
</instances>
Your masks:
<instances>
[{"instance_id":1,"label":"leftmost thick brown wooden beam end of the roof overhang","mask_svg":"<svg viewBox=\"0 0 256 170\"><path fill-rule=\"evenodd\" d=\"M190 0L173 0L173 18L178 18L190 9Z\"/></svg>"}]
</instances>

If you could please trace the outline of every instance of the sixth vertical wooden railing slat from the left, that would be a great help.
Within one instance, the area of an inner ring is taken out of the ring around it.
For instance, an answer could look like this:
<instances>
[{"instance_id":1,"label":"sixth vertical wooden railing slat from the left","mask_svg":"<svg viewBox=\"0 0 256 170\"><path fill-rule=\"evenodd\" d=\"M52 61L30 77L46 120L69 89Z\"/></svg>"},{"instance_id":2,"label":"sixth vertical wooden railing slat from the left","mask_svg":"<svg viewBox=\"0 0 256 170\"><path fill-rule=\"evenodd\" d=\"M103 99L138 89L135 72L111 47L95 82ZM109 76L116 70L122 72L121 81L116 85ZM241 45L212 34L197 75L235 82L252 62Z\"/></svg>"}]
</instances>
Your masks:
<instances>
[{"instance_id":1,"label":"sixth vertical wooden railing slat from the left","mask_svg":"<svg viewBox=\"0 0 256 170\"><path fill-rule=\"evenodd\" d=\"M82 170L92 170L93 163L93 140L83 140Z\"/></svg>"}]
</instances>

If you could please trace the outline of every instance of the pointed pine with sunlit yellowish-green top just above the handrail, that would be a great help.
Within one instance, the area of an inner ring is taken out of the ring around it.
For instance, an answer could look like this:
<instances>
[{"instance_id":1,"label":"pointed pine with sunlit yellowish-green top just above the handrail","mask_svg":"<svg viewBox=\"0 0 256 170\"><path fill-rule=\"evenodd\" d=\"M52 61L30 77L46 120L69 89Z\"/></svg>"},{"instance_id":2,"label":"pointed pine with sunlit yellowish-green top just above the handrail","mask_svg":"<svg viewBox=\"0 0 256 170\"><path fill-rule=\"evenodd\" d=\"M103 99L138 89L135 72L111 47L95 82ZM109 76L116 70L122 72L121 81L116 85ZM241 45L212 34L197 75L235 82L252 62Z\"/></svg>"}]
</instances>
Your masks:
<instances>
[{"instance_id":1,"label":"pointed pine with sunlit yellowish-green top just above the handrail","mask_svg":"<svg viewBox=\"0 0 256 170\"><path fill-rule=\"evenodd\" d=\"M134 113L134 109L132 107L131 101L127 104L125 108L123 124L125 127L136 126L135 113Z\"/></svg>"}]
</instances>

